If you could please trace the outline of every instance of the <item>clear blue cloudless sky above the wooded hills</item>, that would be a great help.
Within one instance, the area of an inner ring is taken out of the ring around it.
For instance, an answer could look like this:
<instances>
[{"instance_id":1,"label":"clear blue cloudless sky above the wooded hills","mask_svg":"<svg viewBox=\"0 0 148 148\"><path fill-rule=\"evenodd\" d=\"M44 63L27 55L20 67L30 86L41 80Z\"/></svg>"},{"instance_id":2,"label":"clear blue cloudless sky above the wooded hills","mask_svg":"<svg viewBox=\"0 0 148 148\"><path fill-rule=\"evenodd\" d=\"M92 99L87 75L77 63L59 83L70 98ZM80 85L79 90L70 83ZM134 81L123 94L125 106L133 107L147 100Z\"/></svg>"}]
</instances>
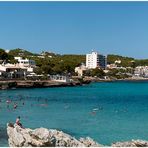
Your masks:
<instances>
[{"instance_id":1,"label":"clear blue cloudless sky above the wooded hills","mask_svg":"<svg viewBox=\"0 0 148 148\"><path fill-rule=\"evenodd\" d=\"M148 2L0 2L0 48L148 58Z\"/></svg>"}]
</instances>

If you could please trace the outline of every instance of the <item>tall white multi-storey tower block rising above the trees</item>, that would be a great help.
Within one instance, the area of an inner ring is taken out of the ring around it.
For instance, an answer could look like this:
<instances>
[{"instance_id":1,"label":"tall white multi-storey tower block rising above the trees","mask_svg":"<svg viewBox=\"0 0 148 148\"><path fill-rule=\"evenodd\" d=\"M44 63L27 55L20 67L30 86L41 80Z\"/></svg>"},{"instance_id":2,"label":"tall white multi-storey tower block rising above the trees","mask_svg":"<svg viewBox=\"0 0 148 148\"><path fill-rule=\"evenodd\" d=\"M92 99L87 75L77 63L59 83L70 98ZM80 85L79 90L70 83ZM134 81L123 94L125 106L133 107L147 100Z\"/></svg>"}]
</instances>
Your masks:
<instances>
[{"instance_id":1,"label":"tall white multi-storey tower block rising above the trees","mask_svg":"<svg viewBox=\"0 0 148 148\"><path fill-rule=\"evenodd\" d=\"M107 60L104 55L100 55L97 52L92 51L90 54L86 54L86 67L88 69L102 68L105 69Z\"/></svg>"}]
</instances>

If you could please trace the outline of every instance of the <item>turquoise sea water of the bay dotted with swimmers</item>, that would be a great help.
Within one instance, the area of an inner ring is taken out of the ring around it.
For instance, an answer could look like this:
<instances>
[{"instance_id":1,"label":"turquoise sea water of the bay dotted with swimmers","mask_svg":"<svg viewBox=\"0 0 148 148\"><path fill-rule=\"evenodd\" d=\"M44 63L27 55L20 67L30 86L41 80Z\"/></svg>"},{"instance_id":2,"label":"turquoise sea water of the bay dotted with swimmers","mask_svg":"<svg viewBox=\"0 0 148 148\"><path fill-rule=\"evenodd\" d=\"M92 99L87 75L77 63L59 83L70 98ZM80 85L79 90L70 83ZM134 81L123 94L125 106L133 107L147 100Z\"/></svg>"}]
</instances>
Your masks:
<instances>
[{"instance_id":1,"label":"turquoise sea water of the bay dotted with swimmers","mask_svg":"<svg viewBox=\"0 0 148 148\"><path fill-rule=\"evenodd\" d=\"M0 90L0 147L8 146L6 124L17 116L24 127L59 129L104 145L148 140L148 81Z\"/></svg>"}]
</instances>

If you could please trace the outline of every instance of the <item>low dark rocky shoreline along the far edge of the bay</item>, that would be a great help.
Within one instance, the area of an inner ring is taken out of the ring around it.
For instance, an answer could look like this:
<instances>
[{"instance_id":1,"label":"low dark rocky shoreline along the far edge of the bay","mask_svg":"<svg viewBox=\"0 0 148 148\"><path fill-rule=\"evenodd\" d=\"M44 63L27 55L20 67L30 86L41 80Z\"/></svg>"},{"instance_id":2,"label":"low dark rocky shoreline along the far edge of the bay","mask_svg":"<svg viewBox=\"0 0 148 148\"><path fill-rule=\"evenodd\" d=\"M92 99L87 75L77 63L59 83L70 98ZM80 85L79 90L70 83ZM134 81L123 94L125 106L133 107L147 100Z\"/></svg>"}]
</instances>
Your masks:
<instances>
[{"instance_id":1,"label":"low dark rocky shoreline along the far edge of the bay","mask_svg":"<svg viewBox=\"0 0 148 148\"><path fill-rule=\"evenodd\" d=\"M129 82L138 82L138 81L148 81L148 78L140 79L99 79L94 77L86 77L83 79L76 79L72 82L56 82L50 80L42 81L33 81L33 80L1 80L0 81L0 90L4 89L16 89L16 88L45 88L45 87L73 87L73 86L82 86L84 84L89 84L91 82L116 82L116 81L129 81Z\"/></svg>"}]
</instances>

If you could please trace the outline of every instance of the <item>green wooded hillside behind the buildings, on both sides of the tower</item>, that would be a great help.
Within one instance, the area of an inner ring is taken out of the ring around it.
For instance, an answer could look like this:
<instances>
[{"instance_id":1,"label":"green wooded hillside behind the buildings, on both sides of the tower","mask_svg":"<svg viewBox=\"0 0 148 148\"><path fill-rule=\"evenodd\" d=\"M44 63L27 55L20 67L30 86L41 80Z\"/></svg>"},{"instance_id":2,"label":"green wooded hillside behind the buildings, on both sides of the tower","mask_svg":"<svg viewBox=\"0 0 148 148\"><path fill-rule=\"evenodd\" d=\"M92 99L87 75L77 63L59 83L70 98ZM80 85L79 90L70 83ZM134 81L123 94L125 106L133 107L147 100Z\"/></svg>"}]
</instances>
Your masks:
<instances>
[{"instance_id":1,"label":"green wooded hillside behind the buildings, on both sides of the tower","mask_svg":"<svg viewBox=\"0 0 148 148\"><path fill-rule=\"evenodd\" d=\"M60 55L50 52L42 52L42 54L32 53L27 50L17 48L6 53L4 49L0 49L0 60L10 63L16 63L15 56L22 56L33 59L38 66L35 72L38 74L74 74L74 69L81 63L85 63L85 55ZM42 56L42 57L41 57ZM139 65L148 66L148 59L134 59L132 57L124 57L119 55L109 54L107 56L108 64L113 64L116 60L121 60L118 66L135 67Z\"/></svg>"}]
</instances>

